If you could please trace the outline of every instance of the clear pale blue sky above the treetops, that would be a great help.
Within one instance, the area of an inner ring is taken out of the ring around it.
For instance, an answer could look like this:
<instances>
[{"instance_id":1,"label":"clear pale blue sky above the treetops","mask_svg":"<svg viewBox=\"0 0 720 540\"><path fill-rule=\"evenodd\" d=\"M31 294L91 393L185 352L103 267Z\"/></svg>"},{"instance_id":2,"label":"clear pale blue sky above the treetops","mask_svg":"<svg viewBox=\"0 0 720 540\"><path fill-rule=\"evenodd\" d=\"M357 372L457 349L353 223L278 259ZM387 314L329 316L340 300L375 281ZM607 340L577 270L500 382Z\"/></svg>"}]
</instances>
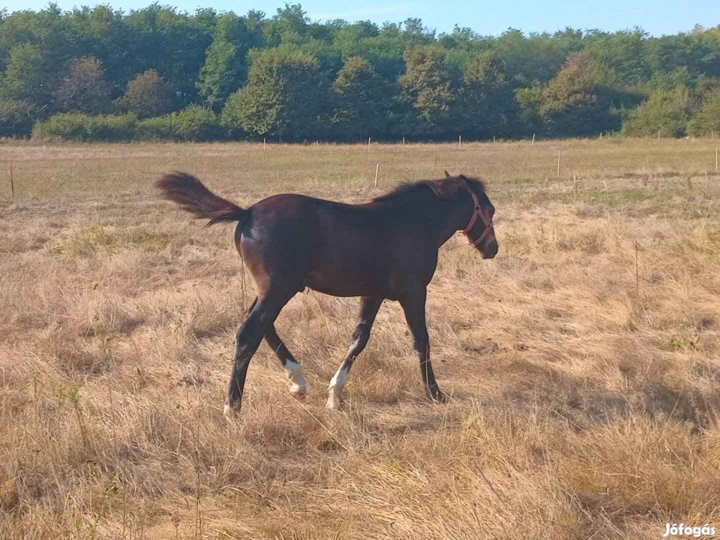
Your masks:
<instances>
[{"instance_id":1,"label":"clear pale blue sky above the treetops","mask_svg":"<svg viewBox=\"0 0 720 540\"><path fill-rule=\"evenodd\" d=\"M150 0L99 0L95 2L58 0L61 9L71 9L84 4L109 4L125 11L138 9L151 3ZM159 0L187 12L198 7L213 7L218 11L234 11L244 14L249 9L260 9L268 15L276 13L284 1L243 1L230 0ZM343 2L337 0L289 1L302 4L307 15L313 20L327 19L371 20L401 22L408 17L423 19L426 27L439 32L450 32L455 24L470 27L483 35L498 35L509 27L524 32L562 29L564 27L587 30L622 30L634 26L642 27L652 35L676 34L691 30L695 24L714 27L720 24L720 3L718 0L366 0ZM3 4L0 4L2 6ZM19 9L42 9L47 0L6 0L9 12Z\"/></svg>"}]
</instances>

